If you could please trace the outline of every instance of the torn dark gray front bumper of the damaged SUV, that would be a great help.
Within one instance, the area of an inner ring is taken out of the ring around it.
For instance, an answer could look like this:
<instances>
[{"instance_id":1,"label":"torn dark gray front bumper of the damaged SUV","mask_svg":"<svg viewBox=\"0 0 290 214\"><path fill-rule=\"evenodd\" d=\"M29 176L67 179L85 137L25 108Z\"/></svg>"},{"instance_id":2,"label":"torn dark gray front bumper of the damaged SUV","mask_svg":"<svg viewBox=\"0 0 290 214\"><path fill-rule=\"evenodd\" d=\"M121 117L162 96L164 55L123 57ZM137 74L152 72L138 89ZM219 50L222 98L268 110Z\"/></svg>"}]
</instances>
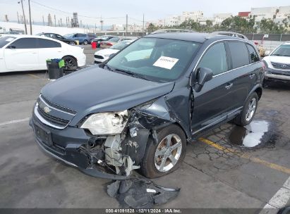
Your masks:
<instances>
[{"instance_id":1,"label":"torn dark gray front bumper of the damaged SUV","mask_svg":"<svg viewBox=\"0 0 290 214\"><path fill-rule=\"evenodd\" d=\"M87 144L90 137L85 131L75 127L66 127L64 130L57 130L42 122L35 116L29 122L35 134L35 140L40 148L50 156L64 161L68 165L78 168L80 171L93 177L106 178L111 180L127 180L129 177L114 175L105 172L102 168L89 165L88 157L80 152L80 146Z\"/></svg>"}]
</instances>

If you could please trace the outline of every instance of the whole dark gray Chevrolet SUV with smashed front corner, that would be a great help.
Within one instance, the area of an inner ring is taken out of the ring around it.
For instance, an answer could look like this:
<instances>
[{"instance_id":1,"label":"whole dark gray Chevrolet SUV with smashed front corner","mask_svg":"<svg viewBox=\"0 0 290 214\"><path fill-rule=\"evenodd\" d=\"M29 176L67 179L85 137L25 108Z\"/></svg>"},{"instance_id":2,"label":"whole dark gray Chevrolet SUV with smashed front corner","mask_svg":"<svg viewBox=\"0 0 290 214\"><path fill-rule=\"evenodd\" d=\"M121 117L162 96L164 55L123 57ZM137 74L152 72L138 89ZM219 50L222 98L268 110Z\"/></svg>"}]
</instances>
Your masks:
<instances>
[{"instance_id":1,"label":"whole dark gray Chevrolet SUV with smashed front corner","mask_svg":"<svg viewBox=\"0 0 290 214\"><path fill-rule=\"evenodd\" d=\"M193 139L229 120L248 125L263 73L246 39L150 34L43 87L30 125L44 151L87 175L159 177L179 167Z\"/></svg>"}]
</instances>

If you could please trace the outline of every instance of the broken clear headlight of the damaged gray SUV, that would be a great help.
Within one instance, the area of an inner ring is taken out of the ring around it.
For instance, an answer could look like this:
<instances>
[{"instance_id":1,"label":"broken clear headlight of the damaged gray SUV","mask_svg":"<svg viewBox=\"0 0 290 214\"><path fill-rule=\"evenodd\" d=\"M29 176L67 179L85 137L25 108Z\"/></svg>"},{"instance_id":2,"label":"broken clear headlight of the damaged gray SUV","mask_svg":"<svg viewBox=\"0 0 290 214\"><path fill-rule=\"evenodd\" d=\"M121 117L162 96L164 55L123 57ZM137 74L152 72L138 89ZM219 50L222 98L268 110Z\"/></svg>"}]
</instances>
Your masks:
<instances>
[{"instance_id":1,"label":"broken clear headlight of the damaged gray SUV","mask_svg":"<svg viewBox=\"0 0 290 214\"><path fill-rule=\"evenodd\" d=\"M96 134L120 134L128 121L128 111L95 113L90 115L81 128Z\"/></svg>"}]
</instances>

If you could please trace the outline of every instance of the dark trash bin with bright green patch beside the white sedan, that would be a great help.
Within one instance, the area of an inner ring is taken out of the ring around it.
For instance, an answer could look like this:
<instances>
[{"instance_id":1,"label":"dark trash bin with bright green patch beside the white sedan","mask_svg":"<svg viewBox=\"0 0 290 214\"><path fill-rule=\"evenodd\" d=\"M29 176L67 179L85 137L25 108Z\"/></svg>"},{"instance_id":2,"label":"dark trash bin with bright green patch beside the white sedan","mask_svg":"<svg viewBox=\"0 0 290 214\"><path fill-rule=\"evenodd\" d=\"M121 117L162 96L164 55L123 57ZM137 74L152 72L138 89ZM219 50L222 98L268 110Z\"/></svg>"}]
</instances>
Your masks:
<instances>
[{"instance_id":1,"label":"dark trash bin with bright green patch beside the white sedan","mask_svg":"<svg viewBox=\"0 0 290 214\"><path fill-rule=\"evenodd\" d=\"M56 80L64 76L64 60L61 58L47 59L49 80Z\"/></svg>"}]
</instances>

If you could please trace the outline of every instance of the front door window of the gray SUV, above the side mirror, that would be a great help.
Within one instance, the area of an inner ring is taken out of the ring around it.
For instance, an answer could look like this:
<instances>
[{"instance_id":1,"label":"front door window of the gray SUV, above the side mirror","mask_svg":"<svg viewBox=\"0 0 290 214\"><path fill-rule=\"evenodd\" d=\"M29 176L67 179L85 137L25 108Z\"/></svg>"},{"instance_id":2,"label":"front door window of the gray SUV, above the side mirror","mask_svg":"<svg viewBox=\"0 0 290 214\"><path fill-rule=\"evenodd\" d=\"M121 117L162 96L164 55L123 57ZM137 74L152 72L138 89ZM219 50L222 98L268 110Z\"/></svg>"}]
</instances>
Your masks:
<instances>
[{"instance_id":1,"label":"front door window of the gray SUV, above the side mirror","mask_svg":"<svg viewBox=\"0 0 290 214\"><path fill-rule=\"evenodd\" d=\"M201 59L198 68L210 68L213 75L218 75L229 70L224 43L220 42L210 47Z\"/></svg>"}]
</instances>

